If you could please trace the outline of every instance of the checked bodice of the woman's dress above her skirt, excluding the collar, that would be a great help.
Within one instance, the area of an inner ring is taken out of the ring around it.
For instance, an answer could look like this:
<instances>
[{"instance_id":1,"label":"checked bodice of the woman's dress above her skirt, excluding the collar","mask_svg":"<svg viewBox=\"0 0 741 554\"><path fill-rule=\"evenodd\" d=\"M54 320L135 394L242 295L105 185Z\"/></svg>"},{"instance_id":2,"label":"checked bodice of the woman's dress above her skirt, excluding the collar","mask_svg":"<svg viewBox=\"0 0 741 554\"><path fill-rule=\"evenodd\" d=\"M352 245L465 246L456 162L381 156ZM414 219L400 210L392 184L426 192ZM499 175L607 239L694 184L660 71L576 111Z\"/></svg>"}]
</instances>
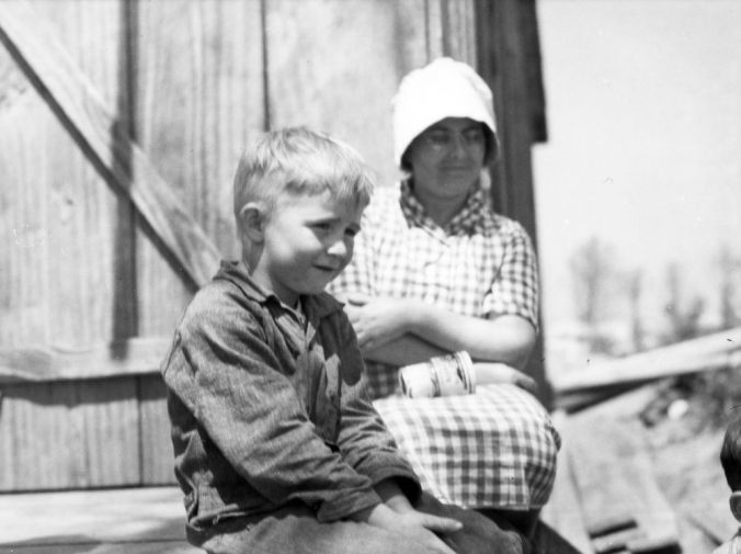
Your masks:
<instances>
[{"instance_id":1,"label":"checked bodice of the woman's dress above her skirt, excluding the collar","mask_svg":"<svg viewBox=\"0 0 741 554\"><path fill-rule=\"evenodd\" d=\"M407 182L377 190L353 260L328 290L418 298L472 317L514 314L537 328L532 242L518 223L491 212L482 190L445 228L424 213ZM368 363L367 372L374 398L398 392L396 368Z\"/></svg>"}]
</instances>

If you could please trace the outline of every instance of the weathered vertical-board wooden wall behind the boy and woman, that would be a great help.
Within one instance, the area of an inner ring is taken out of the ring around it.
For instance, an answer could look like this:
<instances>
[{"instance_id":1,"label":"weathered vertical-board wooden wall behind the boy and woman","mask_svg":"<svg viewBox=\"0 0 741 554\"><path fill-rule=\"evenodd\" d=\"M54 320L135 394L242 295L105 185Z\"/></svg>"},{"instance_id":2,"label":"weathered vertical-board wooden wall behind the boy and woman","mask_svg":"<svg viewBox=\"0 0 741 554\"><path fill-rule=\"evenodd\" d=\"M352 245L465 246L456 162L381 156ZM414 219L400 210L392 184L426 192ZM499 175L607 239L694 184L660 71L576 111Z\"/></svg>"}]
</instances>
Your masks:
<instances>
[{"instance_id":1,"label":"weathered vertical-board wooden wall behind the boy and woman","mask_svg":"<svg viewBox=\"0 0 741 554\"><path fill-rule=\"evenodd\" d=\"M21 3L3 0L0 30ZM127 197L136 152L236 256L231 177L244 144L310 125L355 145L390 184L400 78L440 55L481 63L481 4L29 3L22 33L44 37L50 67L79 67L79 90L106 113L81 117L110 135L130 181L112 185L49 109L54 93L39 95L0 48L0 490L172 483L157 361L195 286Z\"/></svg>"}]
</instances>

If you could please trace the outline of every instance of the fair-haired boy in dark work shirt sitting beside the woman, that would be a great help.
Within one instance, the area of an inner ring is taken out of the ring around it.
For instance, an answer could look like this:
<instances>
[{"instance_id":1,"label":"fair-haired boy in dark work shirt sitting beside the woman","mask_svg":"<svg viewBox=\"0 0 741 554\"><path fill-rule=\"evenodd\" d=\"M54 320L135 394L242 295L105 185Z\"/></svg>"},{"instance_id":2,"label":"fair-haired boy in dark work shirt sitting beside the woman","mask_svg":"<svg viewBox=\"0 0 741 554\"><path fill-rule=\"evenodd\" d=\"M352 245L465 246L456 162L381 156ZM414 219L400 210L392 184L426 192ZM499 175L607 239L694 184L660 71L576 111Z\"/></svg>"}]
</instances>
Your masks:
<instances>
[{"instance_id":1,"label":"fair-haired boy in dark work shirt sitting beside the woman","mask_svg":"<svg viewBox=\"0 0 741 554\"><path fill-rule=\"evenodd\" d=\"M516 532L443 506L365 391L342 305L372 182L350 147L267 134L235 177L242 259L193 298L162 363L187 538L214 553L529 552Z\"/></svg>"}]
</instances>

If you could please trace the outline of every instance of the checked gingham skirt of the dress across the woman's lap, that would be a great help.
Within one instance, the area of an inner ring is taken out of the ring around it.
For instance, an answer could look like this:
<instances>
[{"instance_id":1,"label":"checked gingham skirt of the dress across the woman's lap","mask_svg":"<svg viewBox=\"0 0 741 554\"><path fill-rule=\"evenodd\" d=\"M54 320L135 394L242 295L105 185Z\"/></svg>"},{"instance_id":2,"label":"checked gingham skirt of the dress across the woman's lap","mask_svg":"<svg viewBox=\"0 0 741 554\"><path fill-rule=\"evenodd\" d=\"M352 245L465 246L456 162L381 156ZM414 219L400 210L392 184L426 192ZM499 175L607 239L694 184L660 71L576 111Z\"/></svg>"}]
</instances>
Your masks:
<instances>
[{"instance_id":1,"label":"checked gingham skirt of the dress across the woman's lap","mask_svg":"<svg viewBox=\"0 0 741 554\"><path fill-rule=\"evenodd\" d=\"M514 385L475 395L374 402L422 487L467 508L539 508L556 476L560 438L540 404Z\"/></svg>"}]
</instances>

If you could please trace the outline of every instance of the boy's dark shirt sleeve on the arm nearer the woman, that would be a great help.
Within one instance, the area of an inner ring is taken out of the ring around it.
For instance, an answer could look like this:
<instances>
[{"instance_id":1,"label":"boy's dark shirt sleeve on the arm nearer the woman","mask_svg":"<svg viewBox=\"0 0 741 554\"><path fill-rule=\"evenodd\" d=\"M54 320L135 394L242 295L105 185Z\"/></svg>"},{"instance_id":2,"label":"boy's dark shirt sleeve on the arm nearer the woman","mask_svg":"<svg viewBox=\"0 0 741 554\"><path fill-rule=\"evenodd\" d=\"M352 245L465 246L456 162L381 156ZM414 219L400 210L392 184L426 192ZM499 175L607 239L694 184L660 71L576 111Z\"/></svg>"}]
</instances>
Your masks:
<instances>
[{"instance_id":1,"label":"boy's dark shirt sleeve on the arm nearer the woman","mask_svg":"<svg viewBox=\"0 0 741 554\"><path fill-rule=\"evenodd\" d=\"M355 332L344 313L341 320L342 391L339 446L345 461L371 477L374 485L394 478L406 496L415 502L420 482L411 465L398 450L394 437L373 407L365 386L363 358Z\"/></svg>"}]
</instances>

